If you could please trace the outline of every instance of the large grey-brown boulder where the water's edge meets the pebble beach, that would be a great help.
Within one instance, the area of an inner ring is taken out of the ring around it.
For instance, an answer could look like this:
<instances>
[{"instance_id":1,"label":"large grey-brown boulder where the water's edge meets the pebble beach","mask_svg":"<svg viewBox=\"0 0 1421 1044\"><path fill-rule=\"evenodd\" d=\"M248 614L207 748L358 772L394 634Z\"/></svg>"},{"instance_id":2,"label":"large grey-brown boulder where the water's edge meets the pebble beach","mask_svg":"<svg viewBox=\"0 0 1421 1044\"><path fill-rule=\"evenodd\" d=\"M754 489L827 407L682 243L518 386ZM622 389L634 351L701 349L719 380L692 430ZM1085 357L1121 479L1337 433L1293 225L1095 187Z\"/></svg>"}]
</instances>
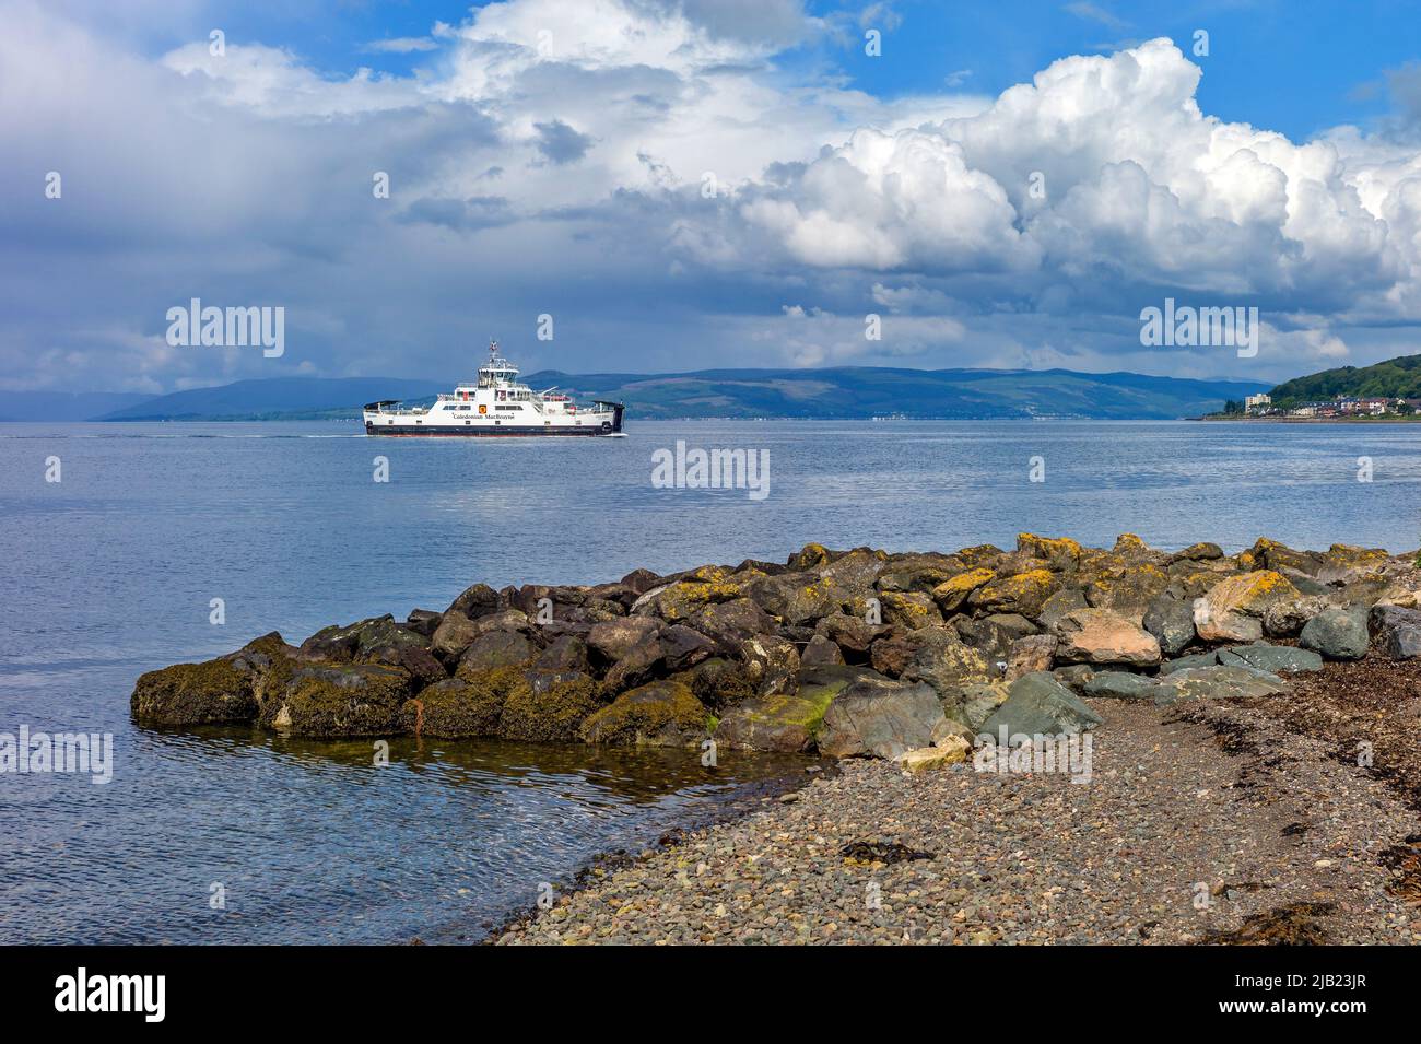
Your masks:
<instances>
[{"instance_id":1,"label":"large grey-brown boulder where the water's edge meets the pebble beach","mask_svg":"<svg viewBox=\"0 0 1421 1044\"><path fill-rule=\"evenodd\" d=\"M894 758L948 734L942 705L929 686L860 680L828 705L818 750L830 757Z\"/></svg>"}]
</instances>

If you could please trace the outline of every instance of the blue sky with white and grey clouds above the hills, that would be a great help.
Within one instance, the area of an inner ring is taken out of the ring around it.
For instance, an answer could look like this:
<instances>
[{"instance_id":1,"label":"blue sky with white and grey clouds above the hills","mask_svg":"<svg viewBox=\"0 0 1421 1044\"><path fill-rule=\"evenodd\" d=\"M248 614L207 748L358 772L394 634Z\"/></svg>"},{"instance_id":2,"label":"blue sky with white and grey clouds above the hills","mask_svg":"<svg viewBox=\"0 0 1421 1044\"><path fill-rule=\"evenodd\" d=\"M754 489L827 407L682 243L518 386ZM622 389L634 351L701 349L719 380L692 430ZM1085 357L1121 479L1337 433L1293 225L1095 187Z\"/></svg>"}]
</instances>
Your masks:
<instances>
[{"instance_id":1,"label":"blue sky with white and grey clouds above the hills","mask_svg":"<svg viewBox=\"0 0 1421 1044\"><path fill-rule=\"evenodd\" d=\"M0 389L1421 352L1403 3L0 0ZM388 192L381 190L381 183ZM280 355L169 310L281 308ZM1258 352L1145 344L1167 298Z\"/></svg>"}]
</instances>

